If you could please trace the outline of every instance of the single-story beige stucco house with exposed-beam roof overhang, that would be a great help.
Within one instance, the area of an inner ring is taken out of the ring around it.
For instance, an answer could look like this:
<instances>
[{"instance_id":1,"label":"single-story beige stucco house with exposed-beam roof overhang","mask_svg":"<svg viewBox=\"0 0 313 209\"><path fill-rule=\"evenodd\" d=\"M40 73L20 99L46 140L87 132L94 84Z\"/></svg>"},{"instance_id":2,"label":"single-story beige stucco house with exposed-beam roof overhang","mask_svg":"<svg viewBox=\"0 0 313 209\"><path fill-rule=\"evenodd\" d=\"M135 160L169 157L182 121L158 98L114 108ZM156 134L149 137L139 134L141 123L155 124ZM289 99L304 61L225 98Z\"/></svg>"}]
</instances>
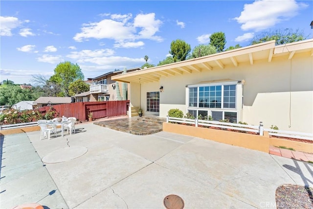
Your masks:
<instances>
[{"instance_id":1,"label":"single-story beige stucco house with exposed-beam roof overhang","mask_svg":"<svg viewBox=\"0 0 313 209\"><path fill-rule=\"evenodd\" d=\"M130 105L166 117L178 108L280 130L313 133L313 39L275 41L119 74L130 83Z\"/></svg>"}]
</instances>

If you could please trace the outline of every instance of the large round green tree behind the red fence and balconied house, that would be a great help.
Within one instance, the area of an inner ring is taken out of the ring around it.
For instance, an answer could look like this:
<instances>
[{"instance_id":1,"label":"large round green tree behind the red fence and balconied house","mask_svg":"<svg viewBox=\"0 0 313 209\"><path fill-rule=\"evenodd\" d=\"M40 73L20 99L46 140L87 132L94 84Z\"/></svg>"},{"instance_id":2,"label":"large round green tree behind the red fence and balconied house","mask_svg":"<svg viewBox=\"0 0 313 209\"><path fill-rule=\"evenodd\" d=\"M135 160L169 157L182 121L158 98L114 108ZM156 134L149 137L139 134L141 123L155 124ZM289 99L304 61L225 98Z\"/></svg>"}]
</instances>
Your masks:
<instances>
[{"instance_id":1,"label":"large round green tree behind the red fence and balconied house","mask_svg":"<svg viewBox=\"0 0 313 209\"><path fill-rule=\"evenodd\" d=\"M60 85L61 93L59 96L70 96L68 90L70 83L79 79L84 80L84 74L80 67L66 61L57 65L54 69L54 75L50 77L49 81Z\"/></svg>"}]
</instances>

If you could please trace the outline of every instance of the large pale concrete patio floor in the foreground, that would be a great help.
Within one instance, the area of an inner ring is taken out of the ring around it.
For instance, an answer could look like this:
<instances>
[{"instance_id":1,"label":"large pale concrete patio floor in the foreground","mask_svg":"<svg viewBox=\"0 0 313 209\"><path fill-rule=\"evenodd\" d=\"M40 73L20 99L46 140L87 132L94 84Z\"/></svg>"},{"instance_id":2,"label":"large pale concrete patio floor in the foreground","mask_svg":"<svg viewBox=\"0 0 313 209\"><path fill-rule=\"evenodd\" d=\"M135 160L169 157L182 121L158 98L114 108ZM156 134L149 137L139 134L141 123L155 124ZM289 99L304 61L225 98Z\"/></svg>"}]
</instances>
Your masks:
<instances>
[{"instance_id":1,"label":"large pale concrete patio floor in the foreground","mask_svg":"<svg viewBox=\"0 0 313 209\"><path fill-rule=\"evenodd\" d=\"M0 208L162 209L169 194L186 209L276 208L276 188L313 186L312 168L205 139L84 123L64 138L40 140L39 131L1 136Z\"/></svg>"}]
</instances>

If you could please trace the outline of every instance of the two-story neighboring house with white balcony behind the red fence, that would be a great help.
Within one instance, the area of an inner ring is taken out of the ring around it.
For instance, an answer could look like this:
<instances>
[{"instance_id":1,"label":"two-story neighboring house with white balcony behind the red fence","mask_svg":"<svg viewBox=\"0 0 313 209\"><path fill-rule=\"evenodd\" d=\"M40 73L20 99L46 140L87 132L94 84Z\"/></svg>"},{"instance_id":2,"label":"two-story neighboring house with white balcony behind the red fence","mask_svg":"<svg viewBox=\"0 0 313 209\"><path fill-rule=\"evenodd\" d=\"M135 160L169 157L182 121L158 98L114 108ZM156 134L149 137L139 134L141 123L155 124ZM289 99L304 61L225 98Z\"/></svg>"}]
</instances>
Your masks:
<instances>
[{"instance_id":1,"label":"two-story neighboring house with white balcony behind the red fence","mask_svg":"<svg viewBox=\"0 0 313 209\"><path fill-rule=\"evenodd\" d=\"M133 72L141 70L140 68L133 68L127 70L127 72ZM117 91L115 81L111 79L113 75L122 74L123 70L112 71L106 74L100 75L98 77L91 79L91 85L89 87L89 92L76 94L73 97L75 102L81 101L113 101L117 100ZM90 79L88 79L90 80ZM118 82L119 91L122 95L122 82ZM128 85L129 88L129 85ZM122 98L126 100L126 98Z\"/></svg>"}]
</instances>

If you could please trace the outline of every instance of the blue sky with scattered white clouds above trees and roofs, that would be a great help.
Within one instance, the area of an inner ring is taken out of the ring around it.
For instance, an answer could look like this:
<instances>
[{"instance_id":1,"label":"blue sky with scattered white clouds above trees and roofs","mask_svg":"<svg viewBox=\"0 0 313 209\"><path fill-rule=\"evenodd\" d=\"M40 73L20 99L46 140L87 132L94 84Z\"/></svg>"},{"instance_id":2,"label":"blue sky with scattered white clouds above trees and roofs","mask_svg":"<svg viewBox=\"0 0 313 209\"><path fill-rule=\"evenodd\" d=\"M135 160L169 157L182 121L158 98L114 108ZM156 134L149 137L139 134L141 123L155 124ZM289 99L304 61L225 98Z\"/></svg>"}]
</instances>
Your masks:
<instances>
[{"instance_id":1,"label":"blue sky with scattered white clouds above trees and roofs","mask_svg":"<svg viewBox=\"0 0 313 209\"><path fill-rule=\"evenodd\" d=\"M228 46L291 28L313 37L313 1L0 1L0 81L49 78L64 61L85 79L114 69L157 64L173 40L208 44L222 31Z\"/></svg>"}]
</instances>

